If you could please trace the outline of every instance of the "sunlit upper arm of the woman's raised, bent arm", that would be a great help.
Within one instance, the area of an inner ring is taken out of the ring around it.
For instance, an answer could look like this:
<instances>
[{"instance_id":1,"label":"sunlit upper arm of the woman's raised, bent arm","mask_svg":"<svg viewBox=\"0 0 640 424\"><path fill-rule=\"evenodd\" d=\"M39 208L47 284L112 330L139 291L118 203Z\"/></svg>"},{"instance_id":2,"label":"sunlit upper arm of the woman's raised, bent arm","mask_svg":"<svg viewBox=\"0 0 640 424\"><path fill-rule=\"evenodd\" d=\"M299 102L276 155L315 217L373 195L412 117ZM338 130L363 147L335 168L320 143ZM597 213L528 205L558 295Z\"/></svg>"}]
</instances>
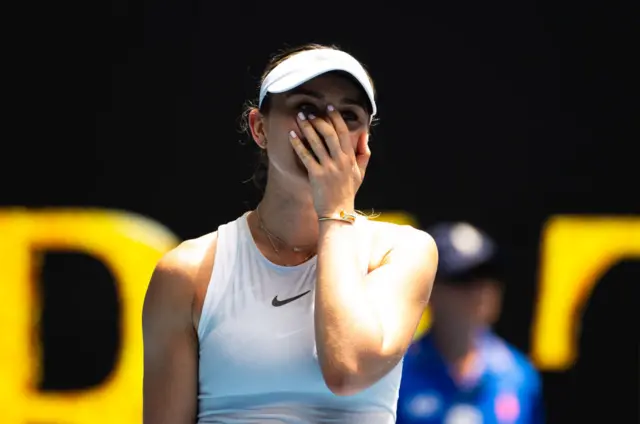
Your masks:
<instances>
[{"instance_id":1,"label":"sunlit upper arm of the woman's raised, bent arm","mask_svg":"<svg viewBox=\"0 0 640 424\"><path fill-rule=\"evenodd\" d=\"M399 358L429 301L438 250L430 235L411 227L397 227L394 239L380 266L367 275L366 286L382 325L382 353Z\"/></svg>"}]
</instances>

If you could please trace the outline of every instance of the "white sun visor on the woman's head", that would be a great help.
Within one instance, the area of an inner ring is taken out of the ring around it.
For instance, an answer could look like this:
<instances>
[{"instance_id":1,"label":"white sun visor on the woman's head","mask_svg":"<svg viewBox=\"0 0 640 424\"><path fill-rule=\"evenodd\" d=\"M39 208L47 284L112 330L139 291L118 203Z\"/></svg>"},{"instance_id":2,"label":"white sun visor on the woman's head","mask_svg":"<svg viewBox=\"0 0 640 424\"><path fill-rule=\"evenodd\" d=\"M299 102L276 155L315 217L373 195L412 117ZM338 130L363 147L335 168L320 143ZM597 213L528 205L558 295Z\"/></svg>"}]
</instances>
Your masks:
<instances>
[{"instance_id":1,"label":"white sun visor on the woman's head","mask_svg":"<svg viewBox=\"0 0 640 424\"><path fill-rule=\"evenodd\" d=\"M333 49L306 50L296 53L276 66L260 87L258 107L267 93L284 93L305 82L332 71L343 71L360 83L371 103L371 117L376 114L373 86L360 62L348 53Z\"/></svg>"}]
</instances>

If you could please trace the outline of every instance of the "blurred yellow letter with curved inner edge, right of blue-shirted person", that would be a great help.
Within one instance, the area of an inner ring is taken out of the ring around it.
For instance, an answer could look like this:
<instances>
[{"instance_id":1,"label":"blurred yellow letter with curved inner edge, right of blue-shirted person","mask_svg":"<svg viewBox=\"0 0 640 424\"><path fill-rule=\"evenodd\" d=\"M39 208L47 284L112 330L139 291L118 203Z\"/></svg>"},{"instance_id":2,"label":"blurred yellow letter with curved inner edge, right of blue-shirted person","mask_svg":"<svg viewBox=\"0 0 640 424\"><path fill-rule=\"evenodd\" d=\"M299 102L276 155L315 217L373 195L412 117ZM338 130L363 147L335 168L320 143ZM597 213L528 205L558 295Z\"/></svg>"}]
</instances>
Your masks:
<instances>
[{"instance_id":1,"label":"blurred yellow letter with curved inner edge, right of blue-shirted person","mask_svg":"<svg viewBox=\"0 0 640 424\"><path fill-rule=\"evenodd\" d=\"M640 217L558 216L547 223L532 332L540 369L562 371L575 363L586 301L598 280L630 257L640 257Z\"/></svg>"}]
</instances>

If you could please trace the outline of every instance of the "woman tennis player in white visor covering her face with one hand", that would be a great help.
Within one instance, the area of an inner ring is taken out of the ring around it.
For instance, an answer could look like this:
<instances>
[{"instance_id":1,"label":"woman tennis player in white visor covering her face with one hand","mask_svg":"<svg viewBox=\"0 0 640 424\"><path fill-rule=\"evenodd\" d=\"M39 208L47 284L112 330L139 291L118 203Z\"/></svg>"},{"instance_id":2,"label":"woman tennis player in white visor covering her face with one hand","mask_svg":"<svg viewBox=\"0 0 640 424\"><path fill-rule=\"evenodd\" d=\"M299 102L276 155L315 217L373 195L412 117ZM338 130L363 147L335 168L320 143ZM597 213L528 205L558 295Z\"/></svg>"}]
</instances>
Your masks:
<instances>
[{"instance_id":1,"label":"woman tennis player in white visor covering her face with one hand","mask_svg":"<svg viewBox=\"0 0 640 424\"><path fill-rule=\"evenodd\" d=\"M169 252L149 284L145 424L395 422L437 250L355 212L375 114L343 51L267 68L247 115L268 158L262 201Z\"/></svg>"}]
</instances>

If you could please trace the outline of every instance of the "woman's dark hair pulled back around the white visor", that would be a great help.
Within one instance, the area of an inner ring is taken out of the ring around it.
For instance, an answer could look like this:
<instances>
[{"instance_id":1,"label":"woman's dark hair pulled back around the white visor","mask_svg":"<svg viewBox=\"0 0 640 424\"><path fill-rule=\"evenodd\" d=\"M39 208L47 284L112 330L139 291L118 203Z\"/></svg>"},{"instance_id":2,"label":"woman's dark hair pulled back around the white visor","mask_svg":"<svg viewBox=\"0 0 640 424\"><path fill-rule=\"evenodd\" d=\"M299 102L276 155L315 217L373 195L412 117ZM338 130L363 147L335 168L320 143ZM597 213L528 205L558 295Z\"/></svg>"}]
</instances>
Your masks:
<instances>
[{"instance_id":1,"label":"woman's dark hair pulled back around the white visor","mask_svg":"<svg viewBox=\"0 0 640 424\"><path fill-rule=\"evenodd\" d=\"M258 85L258 90L260 90L260 86L262 85L267 75L269 75L269 72L271 72L280 63L284 62L285 60L289 59L291 56L294 56L298 53L309 51L309 50L321 50L321 49L340 50L340 48L335 45L327 46L322 44L309 43L309 44L294 47L291 49L282 50L276 53L271 58L271 60L269 60L269 62L267 63L267 66L262 72L262 75L260 77L260 84ZM367 73L367 76L369 76L368 73ZM374 86L371 76L369 76L369 81L371 81L371 86ZM242 113L241 130L245 132L249 136L249 138L251 138L251 129L249 128L249 113L252 110L256 109L258 107L257 105L258 105L257 101L247 102L245 104L244 111ZM263 115L267 115L269 113L270 108L271 108L271 99L269 95L267 95L264 98L262 105L260 107L260 113ZM258 163L256 165L256 169L253 173L253 176L251 177L251 180L253 181L253 184L258 188L258 190L260 190L263 193L264 193L265 187L267 186L268 171L269 171L269 158L267 156L267 151L265 149L259 149Z\"/></svg>"}]
</instances>

